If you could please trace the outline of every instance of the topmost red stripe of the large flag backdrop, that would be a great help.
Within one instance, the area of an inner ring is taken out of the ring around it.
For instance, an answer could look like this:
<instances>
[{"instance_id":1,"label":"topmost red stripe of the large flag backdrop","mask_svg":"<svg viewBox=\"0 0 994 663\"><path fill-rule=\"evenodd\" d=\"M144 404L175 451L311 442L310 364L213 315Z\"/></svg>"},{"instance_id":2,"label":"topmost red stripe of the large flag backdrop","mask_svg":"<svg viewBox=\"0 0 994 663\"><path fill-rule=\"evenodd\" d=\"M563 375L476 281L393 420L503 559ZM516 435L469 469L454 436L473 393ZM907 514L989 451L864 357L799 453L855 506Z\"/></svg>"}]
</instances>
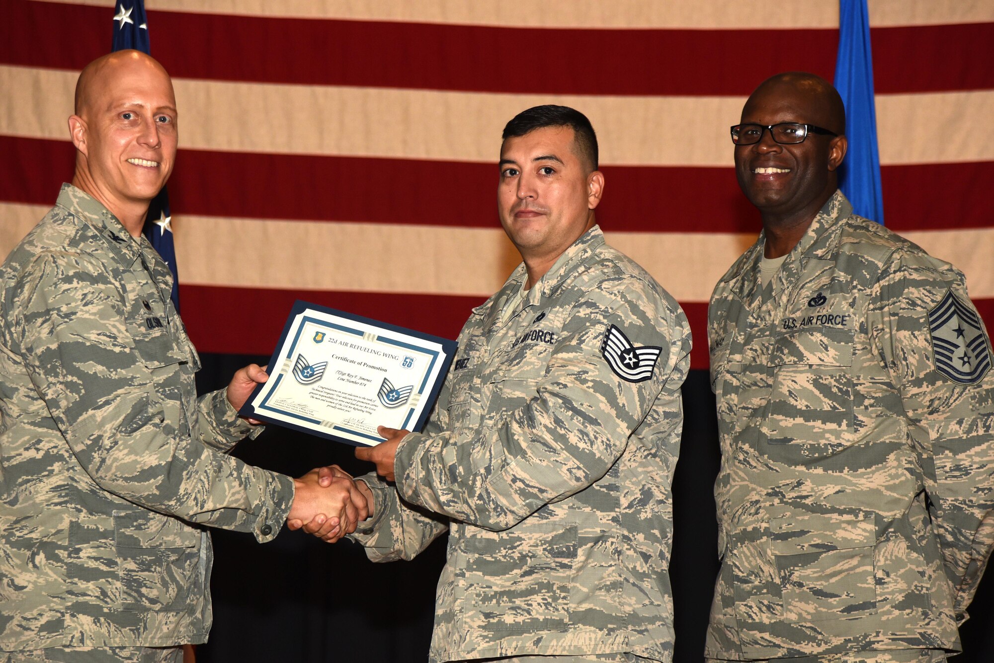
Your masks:
<instances>
[{"instance_id":1,"label":"topmost red stripe of the large flag backdrop","mask_svg":"<svg viewBox=\"0 0 994 663\"><path fill-rule=\"evenodd\" d=\"M6 64L82 68L109 50L106 7L0 0L0 14L17 26L0 40ZM746 95L779 71L831 79L838 44L825 29L532 29L161 11L148 22L153 55L178 77L541 94ZM876 28L871 39L878 92L994 87L992 23ZM540 66L523 70L531 57L523 49L536 45Z\"/></svg>"}]
</instances>

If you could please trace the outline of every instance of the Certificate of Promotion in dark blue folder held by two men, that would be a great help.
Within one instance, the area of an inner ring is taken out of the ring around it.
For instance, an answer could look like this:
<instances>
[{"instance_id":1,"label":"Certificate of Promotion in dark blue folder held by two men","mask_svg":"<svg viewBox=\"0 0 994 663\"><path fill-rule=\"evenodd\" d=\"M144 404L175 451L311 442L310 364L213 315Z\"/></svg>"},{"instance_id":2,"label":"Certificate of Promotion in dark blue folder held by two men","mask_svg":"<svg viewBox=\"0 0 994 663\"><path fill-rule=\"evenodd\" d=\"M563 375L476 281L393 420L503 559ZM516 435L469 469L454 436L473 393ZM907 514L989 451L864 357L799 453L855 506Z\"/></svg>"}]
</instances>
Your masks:
<instances>
[{"instance_id":1,"label":"Certificate of Promotion in dark blue folder held by two men","mask_svg":"<svg viewBox=\"0 0 994 663\"><path fill-rule=\"evenodd\" d=\"M455 348L454 340L298 301L269 360L269 379L239 414L378 445L377 426L424 426Z\"/></svg>"}]
</instances>

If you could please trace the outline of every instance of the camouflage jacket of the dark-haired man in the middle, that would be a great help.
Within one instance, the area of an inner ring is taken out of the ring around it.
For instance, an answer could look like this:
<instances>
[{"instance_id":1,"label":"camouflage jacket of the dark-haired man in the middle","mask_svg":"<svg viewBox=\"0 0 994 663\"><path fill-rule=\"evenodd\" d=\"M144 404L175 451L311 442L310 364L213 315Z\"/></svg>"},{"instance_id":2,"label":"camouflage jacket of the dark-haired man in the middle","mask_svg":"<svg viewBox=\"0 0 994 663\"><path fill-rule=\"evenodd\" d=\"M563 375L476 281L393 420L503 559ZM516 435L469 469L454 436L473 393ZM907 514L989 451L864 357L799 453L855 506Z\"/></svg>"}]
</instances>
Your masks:
<instances>
[{"instance_id":1,"label":"camouflage jacket of the dark-haired man in the middle","mask_svg":"<svg viewBox=\"0 0 994 663\"><path fill-rule=\"evenodd\" d=\"M390 561L449 529L432 661L669 661L687 319L596 226L505 312L525 278L473 310L429 425L398 448L396 490L363 477L376 513L354 538Z\"/></svg>"}]
</instances>

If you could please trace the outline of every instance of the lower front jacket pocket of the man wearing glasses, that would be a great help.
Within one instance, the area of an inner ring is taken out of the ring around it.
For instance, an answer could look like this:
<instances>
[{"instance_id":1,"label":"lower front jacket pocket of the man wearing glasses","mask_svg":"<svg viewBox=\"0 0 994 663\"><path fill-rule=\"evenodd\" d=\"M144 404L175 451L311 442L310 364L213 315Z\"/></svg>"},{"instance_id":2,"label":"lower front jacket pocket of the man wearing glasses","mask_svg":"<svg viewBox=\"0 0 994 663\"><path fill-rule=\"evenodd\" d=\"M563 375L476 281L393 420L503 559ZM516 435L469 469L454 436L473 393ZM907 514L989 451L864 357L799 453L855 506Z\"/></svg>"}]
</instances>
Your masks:
<instances>
[{"instance_id":1,"label":"lower front jacket pocket of the man wearing glasses","mask_svg":"<svg viewBox=\"0 0 994 663\"><path fill-rule=\"evenodd\" d=\"M873 514L776 518L770 538L784 621L825 621L876 611Z\"/></svg>"}]
</instances>

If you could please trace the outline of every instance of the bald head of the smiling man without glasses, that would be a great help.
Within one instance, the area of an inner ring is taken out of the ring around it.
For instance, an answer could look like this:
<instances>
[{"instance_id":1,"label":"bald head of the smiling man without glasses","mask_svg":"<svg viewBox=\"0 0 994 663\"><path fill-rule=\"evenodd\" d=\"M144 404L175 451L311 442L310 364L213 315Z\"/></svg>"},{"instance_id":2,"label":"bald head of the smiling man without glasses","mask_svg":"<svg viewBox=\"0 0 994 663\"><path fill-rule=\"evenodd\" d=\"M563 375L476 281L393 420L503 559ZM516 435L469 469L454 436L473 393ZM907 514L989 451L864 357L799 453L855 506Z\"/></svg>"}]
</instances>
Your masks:
<instances>
[{"instance_id":1,"label":"bald head of the smiling man without glasses","mask_svg":"<svg viewBox=\"0 0 994 663\"><path fill-rule=\"evenodd\" d=\"M172 173L176 98L162 66L137 52L119 53L81 74L70 131L79 150L74 184L128 227Z\"/></svg>"}]
</instances>

